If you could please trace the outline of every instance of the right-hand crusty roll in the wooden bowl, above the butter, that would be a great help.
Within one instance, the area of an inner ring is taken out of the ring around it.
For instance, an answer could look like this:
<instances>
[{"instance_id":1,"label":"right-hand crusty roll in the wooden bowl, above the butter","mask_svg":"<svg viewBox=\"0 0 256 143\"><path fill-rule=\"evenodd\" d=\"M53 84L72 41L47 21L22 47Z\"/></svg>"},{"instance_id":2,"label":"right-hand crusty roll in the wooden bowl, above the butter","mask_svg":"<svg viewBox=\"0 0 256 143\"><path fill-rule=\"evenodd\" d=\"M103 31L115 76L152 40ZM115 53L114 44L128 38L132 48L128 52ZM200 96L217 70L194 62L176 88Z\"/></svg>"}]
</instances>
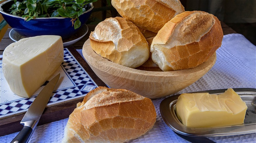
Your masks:
<instances>
[{"instance_id":1,"label":"right-hand crusty roll in the wooden bowl, above the butter","mask_svg":"<svg viewBox=\"0 0 256 143\"><path fill-rule=\"evenodd\" d=\"M221 46L220 21L203 11L176 15L153 39L152 60L163 71L189 69L205 62Z\"/></svg>"}]
</instances>

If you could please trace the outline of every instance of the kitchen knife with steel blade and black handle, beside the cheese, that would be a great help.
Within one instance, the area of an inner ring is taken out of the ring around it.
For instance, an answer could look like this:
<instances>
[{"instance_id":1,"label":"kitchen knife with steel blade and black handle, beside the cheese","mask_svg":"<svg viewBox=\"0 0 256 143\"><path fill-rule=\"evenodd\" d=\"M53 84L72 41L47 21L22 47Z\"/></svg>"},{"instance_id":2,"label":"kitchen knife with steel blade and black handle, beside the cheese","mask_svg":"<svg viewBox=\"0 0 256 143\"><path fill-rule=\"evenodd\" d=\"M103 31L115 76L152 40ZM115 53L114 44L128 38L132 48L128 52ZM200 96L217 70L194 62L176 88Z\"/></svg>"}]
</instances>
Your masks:
<instances>
[{"instance_id":1,"label":"kitchen knife with steel blade and black handle, beside the cheese","mask_svg":"<svg viewBox=\"0 0 256 143\"><path fill-rule=\"evenodd\" d=\"M19 134L11 141L11 143L27 143L33 134L36 125L47 105L55 85L59 80L60 74L56 75L37 95L28 111L21 120L23 124L22 130Z\"/></svg>"}]
</instances>

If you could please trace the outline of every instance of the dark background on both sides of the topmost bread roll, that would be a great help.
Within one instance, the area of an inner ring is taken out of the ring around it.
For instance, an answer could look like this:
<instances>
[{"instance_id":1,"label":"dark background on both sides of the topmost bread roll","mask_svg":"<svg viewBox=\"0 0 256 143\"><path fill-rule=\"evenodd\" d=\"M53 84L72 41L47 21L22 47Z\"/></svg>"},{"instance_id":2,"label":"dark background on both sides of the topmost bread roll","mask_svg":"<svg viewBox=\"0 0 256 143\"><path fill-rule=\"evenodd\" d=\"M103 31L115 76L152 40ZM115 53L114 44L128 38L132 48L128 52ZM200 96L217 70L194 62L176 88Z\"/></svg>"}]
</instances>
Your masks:
<instances>
[{"instance_id":1,"label":"dark background on both sides of the topmost bread roll","mask_svg":"<svg viewBox=\"0 0 256 143\"><path fill-rule=\"evenodd\" d=\"M201 10L215 15L237 33L256 45L256 0L180 0L186 11ZM97 24L108 17L120 16L111 0L98 0L91 21Z\"/></svg>"}]
</instances>

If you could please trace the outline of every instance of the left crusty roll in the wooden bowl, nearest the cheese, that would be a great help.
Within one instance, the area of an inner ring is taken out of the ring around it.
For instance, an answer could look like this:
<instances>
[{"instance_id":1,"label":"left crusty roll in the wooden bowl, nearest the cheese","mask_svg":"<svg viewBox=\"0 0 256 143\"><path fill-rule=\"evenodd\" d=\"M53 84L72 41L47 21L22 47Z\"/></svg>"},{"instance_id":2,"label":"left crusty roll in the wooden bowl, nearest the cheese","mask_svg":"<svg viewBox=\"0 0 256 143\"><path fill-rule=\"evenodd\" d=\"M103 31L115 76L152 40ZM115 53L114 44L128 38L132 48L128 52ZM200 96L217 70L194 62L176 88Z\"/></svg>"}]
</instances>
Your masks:
<instances>
[{"instance_id":1,"label":"left crusty roll in the wooden bowl, nearest the cheese","mask_svg":"<svg viewBox=\"0 0 256 143\"><path fill-rule=\"evenodd\" d=\"M89 38L99 56L126 67L139 67L149 57L148 43L138 27L122 17L100 22Z\"/></svg>"}]
</instances>

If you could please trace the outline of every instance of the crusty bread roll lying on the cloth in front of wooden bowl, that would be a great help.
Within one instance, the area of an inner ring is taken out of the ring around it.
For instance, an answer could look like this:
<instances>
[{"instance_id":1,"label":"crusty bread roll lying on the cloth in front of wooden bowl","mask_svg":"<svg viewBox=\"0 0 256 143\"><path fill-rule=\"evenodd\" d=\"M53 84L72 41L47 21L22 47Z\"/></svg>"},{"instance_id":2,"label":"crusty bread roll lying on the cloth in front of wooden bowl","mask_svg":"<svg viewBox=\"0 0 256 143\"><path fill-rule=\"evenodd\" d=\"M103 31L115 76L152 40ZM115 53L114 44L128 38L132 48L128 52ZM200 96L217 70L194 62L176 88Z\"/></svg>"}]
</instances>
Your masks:
<instances>
[{"instance_id":1,"label":"crusty bread roll lying on the cloth in front of wooden bowl","mask_svg":"<svg viewBox=\"0 0 256 143\"><path fill-rule=\"evenodd\" d=\"M156 110L149 98L98 87L69 116L62 142L127 142L150 130Z\"/></svg>"}]
</instances>

